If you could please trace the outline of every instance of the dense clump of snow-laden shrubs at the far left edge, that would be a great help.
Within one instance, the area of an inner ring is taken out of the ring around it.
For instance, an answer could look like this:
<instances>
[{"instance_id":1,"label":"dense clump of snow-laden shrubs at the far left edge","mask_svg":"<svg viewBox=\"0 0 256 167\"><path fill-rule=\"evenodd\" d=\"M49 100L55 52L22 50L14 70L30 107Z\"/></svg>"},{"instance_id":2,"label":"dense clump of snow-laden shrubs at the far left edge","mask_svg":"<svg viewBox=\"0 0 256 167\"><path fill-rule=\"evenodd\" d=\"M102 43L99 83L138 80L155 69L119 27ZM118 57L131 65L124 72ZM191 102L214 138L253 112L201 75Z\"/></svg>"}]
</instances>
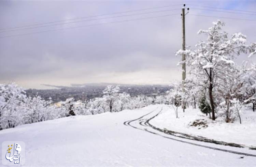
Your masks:
<instances>
[{"instance_id":1,"label":"dense clump of snow-laden shrubs at the far left edge","mask_svg":"<svg viewBox=\"0 0 256 167\"><path fill-rule=\"evenodd\" d=\"M65 108L57 108L51 100L27 97L15 83L0 85L0 130L64 117L65 113Z\"/></svg>"}]
</instances>

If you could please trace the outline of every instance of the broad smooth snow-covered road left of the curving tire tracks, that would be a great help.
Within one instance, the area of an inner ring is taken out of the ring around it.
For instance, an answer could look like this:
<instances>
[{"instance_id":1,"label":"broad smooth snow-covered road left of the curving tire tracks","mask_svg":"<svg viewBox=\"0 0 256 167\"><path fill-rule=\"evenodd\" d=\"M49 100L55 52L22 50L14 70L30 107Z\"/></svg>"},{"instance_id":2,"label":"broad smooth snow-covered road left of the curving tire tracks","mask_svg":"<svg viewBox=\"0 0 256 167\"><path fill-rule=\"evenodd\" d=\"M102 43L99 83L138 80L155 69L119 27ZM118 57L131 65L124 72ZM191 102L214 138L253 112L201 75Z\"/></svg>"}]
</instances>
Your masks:
<instances>
[{"instance_id":1,"label":"broad smooth snow-covered road left of the curving tire tracks","mask_svg":"<svg viewBox=\"0 0 256 167\"><path fill-rule=\"evenodd\" d=\"M24 141L29 166L256 166L256 157L213 148L256 155L255 150L168 136L145 126L143 121L161 109L165 106L21 125L0 131L0 141Z\"/></svg>"}]
</instances>

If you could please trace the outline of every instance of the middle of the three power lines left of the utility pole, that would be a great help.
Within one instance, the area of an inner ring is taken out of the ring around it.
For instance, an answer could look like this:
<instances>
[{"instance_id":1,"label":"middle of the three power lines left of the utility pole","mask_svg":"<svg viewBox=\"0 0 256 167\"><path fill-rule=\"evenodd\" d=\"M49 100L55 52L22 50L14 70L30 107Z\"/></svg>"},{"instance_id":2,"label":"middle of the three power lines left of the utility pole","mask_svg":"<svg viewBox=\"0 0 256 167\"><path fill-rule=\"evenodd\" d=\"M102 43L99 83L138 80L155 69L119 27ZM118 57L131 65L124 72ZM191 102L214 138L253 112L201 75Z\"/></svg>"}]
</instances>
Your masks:
<instances>
[{"instance_id":1,"label":"middle of the three power lines left of the utility pole","mask_svg":"<svg viewBox=\"0 0 256 167\"><path fill-rule=\"evenodd\" d=\"M20 31L20 30L28 30L28 29L42 28L42 27L51 27L51 26L57 26L57 25L66 25L66 24L73 24L73 23L77 23L77 22L85 22L85 21L93 21L93 20L102 20L102 19L108 19L108 18L118 18L118 17L125 17L125 16L135 16L135 15L142 15L142 14L151 14L151 13L159 13L159 12L168 12L168 11L175 11L175 10L180 10L180 9L162 10L162 11L153 11L153 12L144 12L144 13L136 13L136 14L121 15L121 16L110 16L110 17L103 17L103 18L95 18L95 19L87 19L87 20L73 21L73 22L63 22L63 23L52 24L52 25L44 25L44 26L37 26L37 27L28 27L28 28L22 28L22 29L0 31L0 33L3 33L3 32L12 32L12 31Z\"/></svg>"}]
</instances>

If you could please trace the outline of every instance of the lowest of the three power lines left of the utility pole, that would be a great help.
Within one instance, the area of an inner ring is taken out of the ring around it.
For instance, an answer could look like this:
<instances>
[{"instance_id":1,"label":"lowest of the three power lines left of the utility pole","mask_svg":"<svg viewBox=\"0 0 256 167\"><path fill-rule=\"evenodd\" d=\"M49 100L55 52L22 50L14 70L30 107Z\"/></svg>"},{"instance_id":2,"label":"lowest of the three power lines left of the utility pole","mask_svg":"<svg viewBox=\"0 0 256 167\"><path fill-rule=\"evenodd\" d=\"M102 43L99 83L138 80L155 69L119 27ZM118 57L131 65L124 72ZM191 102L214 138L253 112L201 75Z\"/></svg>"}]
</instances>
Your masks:
<instances>
[{"instance_id":1,"label":"lowest of the three power lines left of the utility pole","mask_svg":"<svg viewBox=\"0 0 256 167\"><path fill-rule=\"evenodd\" d=\"M154 17L135 18L135 19L121 20L121 21L112 21L112 22L105 22L105 23L99 23L99 24L91 24L91 25L86 25L86 26L60 28L60 29L47 30L47 31L38 31L38 32L32 32L32 33L25 33L25 34L0 36L0 38L13 37L13 36L23 36L23 35L30 35L30 34L38 34L38 33L44 33L44 32L52 32L52 31L59 31L59 30L66 30L66 29L75 29L75 28L82 28L82 27L90 27L90 26L97 26L97 25L104 25L104 24L113 24L113 23L133 21L133 20L143 20L143 19L150 19L150 18L159 18L159 17L166 17L166 16L173 16L173 15L180 15L180 13L169 14L169 15L160 15L160 16L154 16Z\"/></svg>"}]
</instances>

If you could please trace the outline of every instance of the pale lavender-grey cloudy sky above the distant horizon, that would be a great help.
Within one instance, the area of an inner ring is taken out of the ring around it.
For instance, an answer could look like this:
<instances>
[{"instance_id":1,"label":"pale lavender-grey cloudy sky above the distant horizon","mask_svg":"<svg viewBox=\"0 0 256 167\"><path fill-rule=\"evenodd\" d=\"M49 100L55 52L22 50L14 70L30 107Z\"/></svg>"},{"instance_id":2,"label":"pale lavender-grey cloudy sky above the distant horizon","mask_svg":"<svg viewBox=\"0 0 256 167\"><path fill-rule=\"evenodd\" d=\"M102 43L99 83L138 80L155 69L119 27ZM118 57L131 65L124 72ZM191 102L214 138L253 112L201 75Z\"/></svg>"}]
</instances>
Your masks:
<instances>
[{"instance_id":1,"label":"pale lavender-grey cloudy sky above the distant horizon","mask_svg":"<svg viewBox=\"0 0 256 167\"><path fill-rule=\"evenodd\" d=\"M245 20L255 19L256 13L244 12L255 11L256 1L1 0L0 83L16 81L25 88L41 89L41 84L168 84L180 80L181 67L176 65L180 57L175 51L182 43L183 2L190 7L187 45L194 47L204 40L197 31L218 19L195 15L242 18L219 19L226 22L224 29L229 34L242 32L248 42L256 42L256 21ZM224 13L216 10L227 10L207 7L241 11ZM117 14L104 15L111 13ZM246 55L237 59L242 60L255 62Z\"/></svg>"}]
</instances>

